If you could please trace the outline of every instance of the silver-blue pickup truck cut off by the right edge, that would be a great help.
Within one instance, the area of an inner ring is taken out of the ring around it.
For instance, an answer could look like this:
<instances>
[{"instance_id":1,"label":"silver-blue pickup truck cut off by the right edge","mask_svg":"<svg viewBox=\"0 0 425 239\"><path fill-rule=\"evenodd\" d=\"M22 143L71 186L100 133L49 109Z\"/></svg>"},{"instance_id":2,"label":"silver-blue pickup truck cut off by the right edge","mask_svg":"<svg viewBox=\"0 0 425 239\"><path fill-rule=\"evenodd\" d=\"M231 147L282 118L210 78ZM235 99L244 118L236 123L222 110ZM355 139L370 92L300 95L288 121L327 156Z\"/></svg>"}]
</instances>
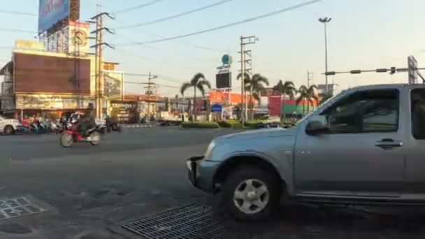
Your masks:
<instances>
[{"instance_id":1,"label":"silver-blue pickup truck cut off by the right edge","mask_svg":"<svg viewBox=\"0 0 425 239\"><path fill-rule=\"evenodd\" d=\"M290 129L215 138L187 167L238 219L267 218L282 198L425 204L425 85L347 89Z\"/></svg>"}]
</instances>

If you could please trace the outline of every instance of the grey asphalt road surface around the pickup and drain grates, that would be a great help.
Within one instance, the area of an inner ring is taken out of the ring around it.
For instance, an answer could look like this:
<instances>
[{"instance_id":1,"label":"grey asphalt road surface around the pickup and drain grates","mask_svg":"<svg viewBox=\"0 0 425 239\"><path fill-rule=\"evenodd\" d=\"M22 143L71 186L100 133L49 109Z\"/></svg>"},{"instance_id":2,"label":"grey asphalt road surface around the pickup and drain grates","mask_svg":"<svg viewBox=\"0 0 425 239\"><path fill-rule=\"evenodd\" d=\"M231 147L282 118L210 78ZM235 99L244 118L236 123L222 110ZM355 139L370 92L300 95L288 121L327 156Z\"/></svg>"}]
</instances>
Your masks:
<instances>
[{"instance_id":1,"label":"grey asphalt road surface around the pickup and drain grates","mask_svg":"<svg viewBox=\"0 0 425 239\"><path fill-rule=\"evenodd\" d=\"M111 228L186 203L210 203L214 198L187 181L185 159L234 132L124 129L99 146L69 149L55 135L1 136L0 199L28 196L49 211L0 220L0 238L125 238ZM222 222L225 238L424 238L421 210L282 205L271 222Z\"/></svg>"}]
</instances>

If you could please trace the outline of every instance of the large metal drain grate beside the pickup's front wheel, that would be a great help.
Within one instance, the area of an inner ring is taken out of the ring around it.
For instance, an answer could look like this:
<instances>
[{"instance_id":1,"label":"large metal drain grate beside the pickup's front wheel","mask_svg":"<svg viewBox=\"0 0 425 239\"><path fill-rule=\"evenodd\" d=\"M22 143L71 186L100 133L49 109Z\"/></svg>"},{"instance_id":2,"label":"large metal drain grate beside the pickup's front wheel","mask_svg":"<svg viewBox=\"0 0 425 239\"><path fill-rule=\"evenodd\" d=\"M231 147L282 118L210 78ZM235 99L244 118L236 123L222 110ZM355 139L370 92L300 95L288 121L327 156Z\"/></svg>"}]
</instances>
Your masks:
<instances>
[{"instance_id":1,"label":"large metal drain grate beside the pickup's front wheel","mask_svg":"<svg viewBox=\"0 0 425 239\"><path fill-rule=\"evenodd\" d=\"M122 225L143 238L221 239L224 226L204 204L189 205Z\"/></svg>"}]
</instances>

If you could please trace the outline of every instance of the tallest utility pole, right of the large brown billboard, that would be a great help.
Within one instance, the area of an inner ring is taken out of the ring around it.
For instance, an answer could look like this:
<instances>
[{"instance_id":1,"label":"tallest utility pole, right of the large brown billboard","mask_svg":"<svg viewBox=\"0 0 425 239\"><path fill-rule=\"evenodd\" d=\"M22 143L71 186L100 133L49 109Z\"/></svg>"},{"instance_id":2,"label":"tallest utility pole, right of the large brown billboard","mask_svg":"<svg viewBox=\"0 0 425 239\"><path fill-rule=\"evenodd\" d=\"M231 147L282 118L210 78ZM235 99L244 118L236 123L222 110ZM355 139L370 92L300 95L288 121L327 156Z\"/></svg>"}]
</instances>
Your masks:
<instances>
[{"instance_id":1,"label":"tallest utility pole, right of the large brown billboard","mask_svg":"<svg viewBox=\"0 0 425 239\"><path fill-rule=\"evenodd\" d=\"M112 29L108 27L103 27L103 17L107 16L110 19L115 19L112 15L106 12L101 12L101 6L97 5L97 15L92 17L91 19L94 21L89 21L91 23L96 24L96 30L92 31L90 34L96 34L96 43L92 45L90 48L95 48L95 71L96 71L96 117L102 117L102 100L103 100L103 45L108 46L109 48L114 49L113 45L103 42L103 30L108 31L110 34L114 34Z\"/></svg>"}]
</instances>

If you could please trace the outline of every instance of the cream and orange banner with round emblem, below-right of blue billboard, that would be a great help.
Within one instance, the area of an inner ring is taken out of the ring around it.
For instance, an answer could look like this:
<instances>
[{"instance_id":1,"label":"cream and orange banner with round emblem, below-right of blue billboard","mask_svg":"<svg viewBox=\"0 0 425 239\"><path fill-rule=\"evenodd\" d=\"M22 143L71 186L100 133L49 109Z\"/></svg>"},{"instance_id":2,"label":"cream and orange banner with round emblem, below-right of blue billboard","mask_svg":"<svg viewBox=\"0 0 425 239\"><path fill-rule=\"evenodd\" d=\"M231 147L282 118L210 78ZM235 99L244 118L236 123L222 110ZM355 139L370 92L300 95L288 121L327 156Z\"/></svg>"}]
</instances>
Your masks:
<instances>
[{"instance_id":1,"label":"cream and orange banner with round emblem, below-right of blue billboard","mask_svg":"<svg viewBox=\"0 0 425 239\"><path fill-rule=\"evenodd\" d=\"M89 48L89 27L88 22L69 21L69 49L70 53L87 54Z\"/></svg>"}]
</instances>

